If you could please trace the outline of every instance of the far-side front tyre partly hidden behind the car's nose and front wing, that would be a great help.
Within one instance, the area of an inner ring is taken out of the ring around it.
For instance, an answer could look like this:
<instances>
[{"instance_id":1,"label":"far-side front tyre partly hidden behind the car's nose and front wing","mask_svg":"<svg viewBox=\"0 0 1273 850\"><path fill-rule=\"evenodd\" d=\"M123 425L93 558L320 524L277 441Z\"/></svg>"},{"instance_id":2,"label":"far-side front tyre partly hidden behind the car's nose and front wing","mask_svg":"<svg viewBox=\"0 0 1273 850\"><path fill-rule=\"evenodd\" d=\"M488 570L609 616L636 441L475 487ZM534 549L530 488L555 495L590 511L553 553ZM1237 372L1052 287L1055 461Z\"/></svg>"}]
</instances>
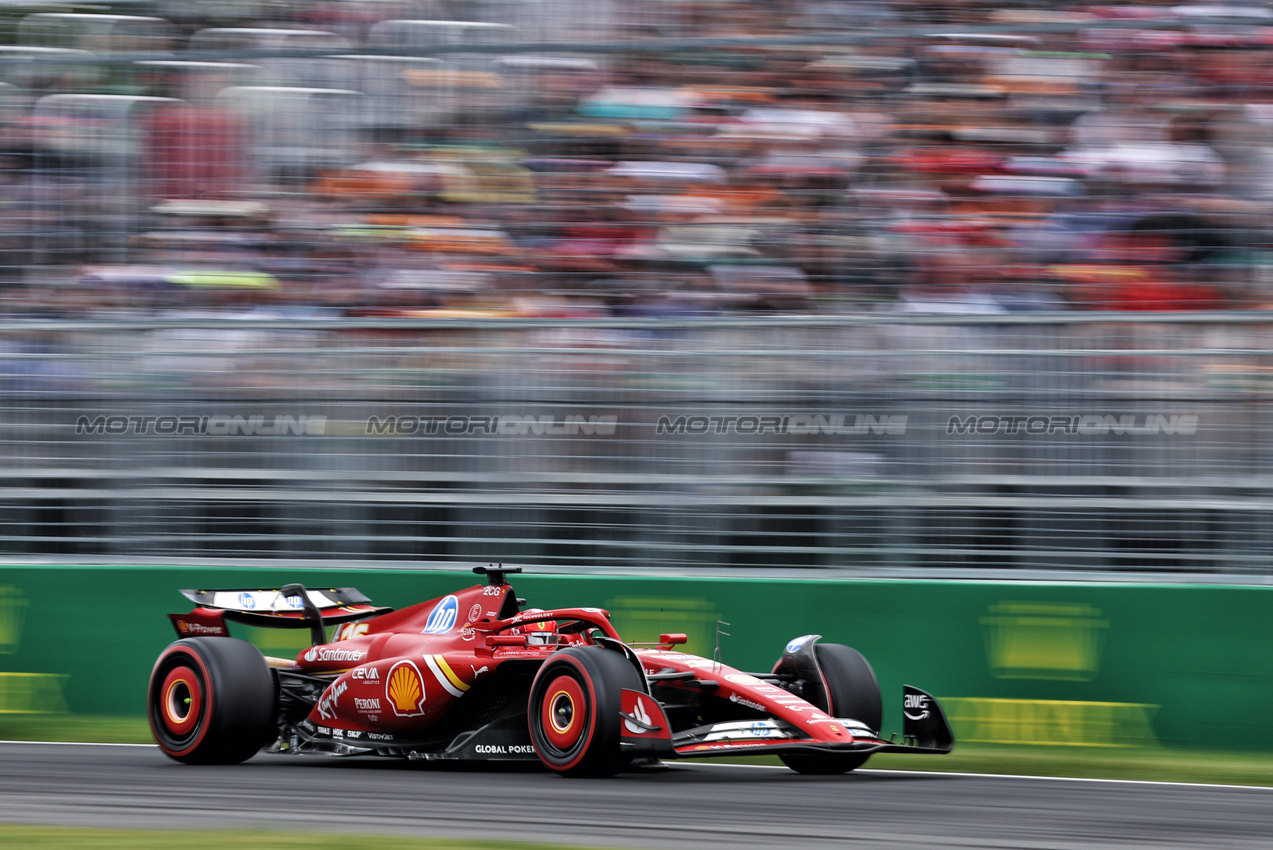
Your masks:
<instances>
[{"instance_id":1,"label":"far-side front tyre partly hidden behind the car's nose and front wing","mask_svg":"<svg viewBox=\"0 0 1273 850\"><path fill-rule=\"evenodd\" d=\"M810 700L833 718L859 720L878 732L883 723L880 682L862 653L843 644L817 644L817 665L826 681L827 699ZM798 774L847 774L866 763L871 753L787 753L783 763Z\"/></svg>"}]
</instances>

